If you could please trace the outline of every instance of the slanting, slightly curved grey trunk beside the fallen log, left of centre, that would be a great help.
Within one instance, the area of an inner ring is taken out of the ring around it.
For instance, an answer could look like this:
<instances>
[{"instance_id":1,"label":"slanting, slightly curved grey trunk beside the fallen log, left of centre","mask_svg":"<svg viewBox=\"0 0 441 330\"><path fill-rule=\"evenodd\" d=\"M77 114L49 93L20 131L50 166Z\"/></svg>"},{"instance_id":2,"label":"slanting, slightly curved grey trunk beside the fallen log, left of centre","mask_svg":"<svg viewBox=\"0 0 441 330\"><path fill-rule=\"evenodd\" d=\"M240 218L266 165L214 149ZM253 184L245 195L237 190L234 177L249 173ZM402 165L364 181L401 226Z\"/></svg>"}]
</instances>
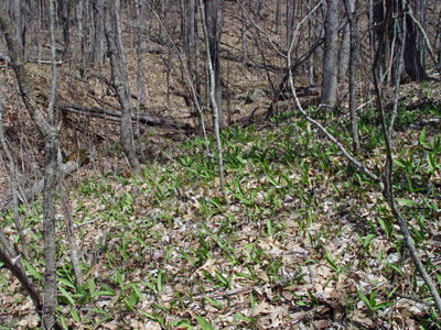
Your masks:
<instances>
[{"instance_id":1,"label":"slanting, slightly curved grey trunk beside the fallen log, left of centre","mask_svg":"<svg viewBox=\"0 0 441 330\"><path fill-rule=\"evenodd\" d=\"M121 105L121 125L120 125L120 141L127 160L129 161L130 167L136 175L141 173L141 164L139 162L138 155L133 147L133 132L131 128L131 105L130 99L127 94L127 89L123 86L123 76L121 72L126 70L121 66L121 61L118 56L118 48L116 42L116 35L112 28L112 11L111 11L111 0L106 0L105 2L105 33L107 40L107 46L109 50L111 76L114 81L115 91L117 94L119 103Z\"/></svg>"}]
</instances>

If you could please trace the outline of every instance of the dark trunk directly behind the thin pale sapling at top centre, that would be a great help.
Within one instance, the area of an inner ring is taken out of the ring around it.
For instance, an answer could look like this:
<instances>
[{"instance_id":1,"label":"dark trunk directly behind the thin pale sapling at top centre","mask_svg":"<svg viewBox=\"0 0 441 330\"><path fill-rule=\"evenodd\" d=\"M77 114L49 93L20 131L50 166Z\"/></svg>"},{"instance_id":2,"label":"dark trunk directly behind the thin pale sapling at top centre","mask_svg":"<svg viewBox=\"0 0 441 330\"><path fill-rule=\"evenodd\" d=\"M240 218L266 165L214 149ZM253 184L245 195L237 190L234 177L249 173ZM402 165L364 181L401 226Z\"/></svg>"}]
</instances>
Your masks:
<instances>
[{"instance_id":1,"label":"dark trunk directly behind the thin pale sapling at top centre","mask_svg":"<svg viewBox=\"0 0 441 330\"><path fill-rule=\"evenodd\" d=\"M217 10L218 10L217 1L218 0L204 0L204 7L205 7L209 57L214 72L214 86L212 86L211 89L214 89L216 98L219 125L224 127L225 119L224 119L224 111L222 109L222 79L220 79L220 62L219 62L220 37L218 35L218 24L217 24Z\"/></svg>"}]
</instances>

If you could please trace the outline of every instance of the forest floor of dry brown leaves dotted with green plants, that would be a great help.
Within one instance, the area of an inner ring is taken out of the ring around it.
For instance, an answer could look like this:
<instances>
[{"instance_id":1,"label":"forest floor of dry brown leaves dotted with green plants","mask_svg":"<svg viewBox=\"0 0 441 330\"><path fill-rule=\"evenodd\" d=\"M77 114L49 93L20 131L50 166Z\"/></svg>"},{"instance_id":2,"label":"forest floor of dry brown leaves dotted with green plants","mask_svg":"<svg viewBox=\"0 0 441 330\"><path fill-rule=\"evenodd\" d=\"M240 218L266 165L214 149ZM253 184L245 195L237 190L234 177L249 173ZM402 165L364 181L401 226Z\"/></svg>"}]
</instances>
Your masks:
<instances>
[{"instance_id":1,"label":"forest floor of dry brown leaves dotted with green plants","mask_svg":"<svg viewBox=\"0 0 441 330\"><path fill-rule=\"evenodd\" d=\"M237 43L234 37L227 43ZM146 73L154 73L146 75L148 113L192 125L180 96L186 92L182 81L172 77L169 87L164 84L166 56L146 57ZM179 72L176 58L174 65L169 69ZM26 67L45 105L50 66ZM65 161L83 150L87 154L87 164L66 183L82 284L57 206L62 323L68 329L439 329L432 299L378 186L348 166L291 105L263 121L270 105L263 72L240 62L223 67L232 114L232 127L222 133L228 202L222 200L211 139L206 153L205 142L191 132L142 125L147 161L142 175L132 177L117 123L57 112ZM128 68L136 73L133 59ZM109 77L106 66L87 79L68 63L60 69L58 102L117 107L103 79ZM12 72L6 77L3 128L25 186L30 177L40 178L43 144L20 106ZM129 79L136 86L136 76ZM392 134L394 189L438 285L440 98L439 82L401 86ZM351 148L345 103L334 112L308 111ZM363 151L357 157L380 176L385 146L374 100L358 114ZM9 195L6 167L0 167L3 197ZM32 262L22 262L42 287L39 200L21 207L20 218L32 254ZM1 219L20 249L12 215L3 212ZM37 323L31 299L1 267L0 329L36 329Z\"/></svg>"}]
</instances>

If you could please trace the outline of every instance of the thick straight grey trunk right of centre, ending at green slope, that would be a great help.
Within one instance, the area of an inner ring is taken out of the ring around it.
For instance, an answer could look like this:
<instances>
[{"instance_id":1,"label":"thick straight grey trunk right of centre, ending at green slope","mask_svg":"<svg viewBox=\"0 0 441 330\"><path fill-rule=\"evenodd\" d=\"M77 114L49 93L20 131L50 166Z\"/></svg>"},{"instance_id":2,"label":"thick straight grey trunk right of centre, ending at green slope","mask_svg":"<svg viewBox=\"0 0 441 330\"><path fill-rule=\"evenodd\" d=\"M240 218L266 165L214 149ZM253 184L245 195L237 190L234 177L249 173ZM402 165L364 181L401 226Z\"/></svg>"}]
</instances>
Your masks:
<instances>
[{"instance_id":1,"label":"thick straight grey trunk right of centre, ending at green slope","mask_svg":"<svg viewBox=\"0 0 441 330\"><path fill-rule=\"evenodd\" d=\"M337 29L338 0L329 0L324 22L322 95L320 102L331 108L335 107L337 102Z\"/></svg>"}]
</instances>

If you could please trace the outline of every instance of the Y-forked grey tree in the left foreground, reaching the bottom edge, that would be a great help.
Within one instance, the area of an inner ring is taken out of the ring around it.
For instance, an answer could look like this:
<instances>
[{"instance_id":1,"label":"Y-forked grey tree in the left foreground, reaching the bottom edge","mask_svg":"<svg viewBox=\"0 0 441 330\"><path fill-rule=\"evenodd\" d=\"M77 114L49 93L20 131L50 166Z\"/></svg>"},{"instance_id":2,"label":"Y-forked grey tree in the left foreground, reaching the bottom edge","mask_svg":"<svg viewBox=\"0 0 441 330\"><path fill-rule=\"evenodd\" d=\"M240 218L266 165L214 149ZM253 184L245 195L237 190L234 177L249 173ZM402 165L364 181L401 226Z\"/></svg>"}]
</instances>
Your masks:
<instances>
[{"instance_id":1,"label":"Y-forked grey tree in the left foreground, reaching the bottom edge","mask_svg":"<svg viewBox=\"0 0 441 330\"><path fill-rule=\"evenodd\" d=\"M55 44L53 38L53 20L54 20L54 1L51 0L51 53L55 54ZM56 277L55 277L55 257L56 257L56 234L55 234L55 189L57 182L57 161L56 155L58 151L58 132L53 122L53 106L55 101L55 87L56 80L54 79L55 73L53 72L51 100L47 109L49 121L45 119L43 112L36 106L33 97L31 85L29 82L28 74L24 67L22 50L13 31L8 11L4 7L4 1L0 1L0 26L4 33L4 38L11 57L11 66L15 73L17 82L19 85L20 95L26 107L26 110L35 122L41 135L44 138L45 144L45 179L43 189L43 238L44 238L44 304L43 304L43 329L53 329L56 327L55 321L55 307L56 307ZM53 63L54 56L52 56ZM52 107L52 108L51 108Z\"/></svg>"}]
</instances>

